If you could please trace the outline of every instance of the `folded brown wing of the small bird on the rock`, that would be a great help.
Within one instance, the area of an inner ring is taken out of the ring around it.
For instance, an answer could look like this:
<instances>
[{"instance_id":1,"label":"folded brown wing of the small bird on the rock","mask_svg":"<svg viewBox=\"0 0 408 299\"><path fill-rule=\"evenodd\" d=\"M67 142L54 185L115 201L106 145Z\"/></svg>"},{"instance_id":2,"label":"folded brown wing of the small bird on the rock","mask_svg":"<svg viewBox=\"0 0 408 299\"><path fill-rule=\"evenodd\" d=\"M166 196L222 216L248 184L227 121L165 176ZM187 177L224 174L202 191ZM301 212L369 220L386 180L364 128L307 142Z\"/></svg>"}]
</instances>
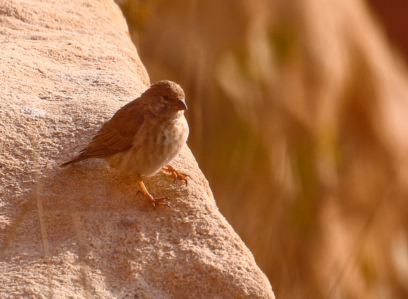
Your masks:
<instances>
[{"instance_id":1,"label":"folded brown wing of the small bird on the rock","mask_svg":"<svg viewBox=\"0 0 408 299\"><path fill-rule=\"evenodd\" d=\"M103 158L129 150L136 133L143 125L144 117L148 112L146 108L146 103L137 98L117 110L75 160Z\"/></svg>"}]
</instances>

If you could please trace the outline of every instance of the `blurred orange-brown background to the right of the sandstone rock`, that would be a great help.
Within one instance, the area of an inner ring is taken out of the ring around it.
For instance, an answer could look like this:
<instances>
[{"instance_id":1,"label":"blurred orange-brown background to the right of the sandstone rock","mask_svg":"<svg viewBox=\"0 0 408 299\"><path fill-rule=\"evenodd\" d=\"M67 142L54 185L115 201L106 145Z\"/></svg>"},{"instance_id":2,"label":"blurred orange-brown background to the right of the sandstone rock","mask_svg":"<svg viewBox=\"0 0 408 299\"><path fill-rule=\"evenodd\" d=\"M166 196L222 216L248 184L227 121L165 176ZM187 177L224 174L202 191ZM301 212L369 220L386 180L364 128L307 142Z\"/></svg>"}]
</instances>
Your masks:
<instances>
[{"instance_id":1,"label":"blurred orange-brown background to the right of the sandstone rock","mask_svg":"<svg viewBox=\"0 0 408 299\"><path fill-rule=\"evenodd\" d=\"M117 2L276 298L408 298L408 2Z\"/></svg>"}]
</instances>

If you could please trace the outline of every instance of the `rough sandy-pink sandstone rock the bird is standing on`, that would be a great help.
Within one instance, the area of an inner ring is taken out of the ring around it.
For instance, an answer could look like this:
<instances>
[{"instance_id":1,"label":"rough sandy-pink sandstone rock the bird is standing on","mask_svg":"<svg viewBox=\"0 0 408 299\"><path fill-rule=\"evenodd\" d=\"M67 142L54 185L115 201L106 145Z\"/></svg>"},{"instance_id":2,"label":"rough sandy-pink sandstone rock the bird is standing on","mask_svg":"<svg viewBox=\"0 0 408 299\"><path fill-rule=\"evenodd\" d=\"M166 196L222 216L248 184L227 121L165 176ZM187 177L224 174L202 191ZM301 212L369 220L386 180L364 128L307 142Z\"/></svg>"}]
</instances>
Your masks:
<instances>
[{"instance_id":1,"label":"rough sandy-pink sandstone rock the bird is standing on","mask_svg":"<svg viewBox=\"0 0 408 299\"><path fill-rule=\"evenodd\" d=\"M146 179L172 209L102 160L58 167L150 84L113 1L0 1L0 33L1 298L274 298L189 148L189 186Z\"/></svg>"}]
</instances>

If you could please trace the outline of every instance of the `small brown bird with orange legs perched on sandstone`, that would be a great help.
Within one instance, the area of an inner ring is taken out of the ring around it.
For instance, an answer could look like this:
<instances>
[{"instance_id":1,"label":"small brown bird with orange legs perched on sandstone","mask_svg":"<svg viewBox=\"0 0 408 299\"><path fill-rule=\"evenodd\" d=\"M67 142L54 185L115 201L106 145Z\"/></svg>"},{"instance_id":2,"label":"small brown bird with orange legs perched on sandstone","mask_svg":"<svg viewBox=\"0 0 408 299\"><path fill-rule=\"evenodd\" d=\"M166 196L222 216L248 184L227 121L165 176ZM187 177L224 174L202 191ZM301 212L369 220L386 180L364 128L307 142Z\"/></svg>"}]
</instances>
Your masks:
<instances>
[{"instance_id":1,"label":"small brown bird with orange legs perched on sandstone","mask_svg":"<svg viewBox=\"0 0 408 299\"><path fill-rule=\"evenodd\" d=\"M61 166L89 158L103 158L115 170L137 177L144 195L155 205L168 205L169 198L153 198L141 177L151 177L160 170L171 172L174 180L187 183L187 174L168 163L186 144L189 125L184 91L172 81L153 84L136 100L127 103L96 133L87 148Z\"/></svg>"}]
</instances>

